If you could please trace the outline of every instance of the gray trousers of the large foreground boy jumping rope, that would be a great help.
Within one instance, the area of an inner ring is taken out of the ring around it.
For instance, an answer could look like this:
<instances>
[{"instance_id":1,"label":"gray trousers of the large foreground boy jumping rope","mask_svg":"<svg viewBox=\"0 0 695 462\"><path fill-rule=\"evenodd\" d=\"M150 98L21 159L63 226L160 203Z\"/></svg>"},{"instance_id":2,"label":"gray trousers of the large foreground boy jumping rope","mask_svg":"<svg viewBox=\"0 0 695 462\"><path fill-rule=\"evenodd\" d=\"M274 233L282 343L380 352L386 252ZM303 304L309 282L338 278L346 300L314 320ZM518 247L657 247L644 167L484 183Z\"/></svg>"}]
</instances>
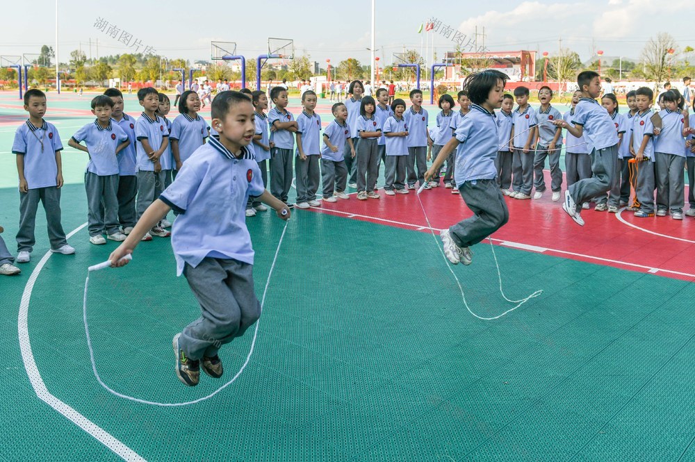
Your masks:
<instances>
[{"instance_id":1,"label":"gray trousers of the large foreground boy jumping rope","mask_svg":"<svg viewBox=\"0 0 695 462\"><path fill-rule=\"evenodd\" d=\"M243 336L261 316L253 265L206 257L195 268L186 263L183 275L201 312L183 328L179 338L179 346L189 358L215 356L222 345Z\"/></svg>"}]
</instances>

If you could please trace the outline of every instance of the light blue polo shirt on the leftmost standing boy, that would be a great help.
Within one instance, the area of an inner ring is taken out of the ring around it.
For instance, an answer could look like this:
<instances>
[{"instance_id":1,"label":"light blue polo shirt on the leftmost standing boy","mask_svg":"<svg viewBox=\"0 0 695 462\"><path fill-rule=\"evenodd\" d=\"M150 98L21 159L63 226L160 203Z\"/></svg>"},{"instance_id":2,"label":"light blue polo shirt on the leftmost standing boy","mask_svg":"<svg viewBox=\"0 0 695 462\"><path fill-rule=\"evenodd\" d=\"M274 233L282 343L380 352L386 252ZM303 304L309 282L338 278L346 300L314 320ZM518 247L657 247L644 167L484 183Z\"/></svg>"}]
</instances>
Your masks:
<instances>
[{"instance_id":1,"label":"light blue polo shirt on the leftmost standing boy","mask_svg":"<svg viewBox=\"0 0 695 462\"><path fill-rule=\"evenodd\" d=\"M54 124L44 120L37 128L27 119L17 127L12 152L24 156L24 179L29 189L58 185L56 151L62 150L63 143Z\"/></svg>"}]
</instances>

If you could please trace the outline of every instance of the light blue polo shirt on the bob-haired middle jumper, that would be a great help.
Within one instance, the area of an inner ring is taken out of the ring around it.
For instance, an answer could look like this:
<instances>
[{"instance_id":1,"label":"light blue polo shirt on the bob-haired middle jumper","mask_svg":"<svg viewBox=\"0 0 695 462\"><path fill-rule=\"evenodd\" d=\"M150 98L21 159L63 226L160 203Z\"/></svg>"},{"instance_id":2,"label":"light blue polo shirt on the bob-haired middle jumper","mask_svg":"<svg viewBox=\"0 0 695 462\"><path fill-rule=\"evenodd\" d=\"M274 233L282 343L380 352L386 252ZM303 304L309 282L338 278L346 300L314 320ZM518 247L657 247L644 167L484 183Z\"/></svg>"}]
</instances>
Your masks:
<instances>
[{"instance_id":1,"label":"light blue polo shirt on the bob-haired middle jumper","mask_svg":"<svg viewBox=\"0 0 695 462\"><path fill-rule=\"evenodd\" d=\"M464 181L489 180L497 177L495 159L499 148L497 119L482 106L471 104L471 112L461 119L454 136L459 143L456 151L454 179Z\"/></svg>"}]
</instances>

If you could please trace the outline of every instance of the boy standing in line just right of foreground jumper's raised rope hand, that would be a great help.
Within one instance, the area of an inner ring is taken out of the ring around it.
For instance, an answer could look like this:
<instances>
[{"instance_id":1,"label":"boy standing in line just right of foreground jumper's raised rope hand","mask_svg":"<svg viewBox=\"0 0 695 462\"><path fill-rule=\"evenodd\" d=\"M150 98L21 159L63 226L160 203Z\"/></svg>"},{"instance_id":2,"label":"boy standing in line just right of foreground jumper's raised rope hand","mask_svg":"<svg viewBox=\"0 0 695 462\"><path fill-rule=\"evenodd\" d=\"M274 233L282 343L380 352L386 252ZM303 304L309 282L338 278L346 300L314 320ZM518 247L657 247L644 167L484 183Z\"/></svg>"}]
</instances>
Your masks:
<instances>
[{"instance_id":1,"label":"boy standing in line just right of foreground jumper's raised rope hand","mask_svg":"<svg viewBox=\"0 0 695 462\"><path fill-rule=\"evenodd\" d=\"M297 152L295 154L295 177L297 179L297 207L309 208L321 205L316 200L318 182L321 179L321 116L316 108L316 92L306 90L302 94L304 110L297 117Z\"/></svg>"}]
</instances>

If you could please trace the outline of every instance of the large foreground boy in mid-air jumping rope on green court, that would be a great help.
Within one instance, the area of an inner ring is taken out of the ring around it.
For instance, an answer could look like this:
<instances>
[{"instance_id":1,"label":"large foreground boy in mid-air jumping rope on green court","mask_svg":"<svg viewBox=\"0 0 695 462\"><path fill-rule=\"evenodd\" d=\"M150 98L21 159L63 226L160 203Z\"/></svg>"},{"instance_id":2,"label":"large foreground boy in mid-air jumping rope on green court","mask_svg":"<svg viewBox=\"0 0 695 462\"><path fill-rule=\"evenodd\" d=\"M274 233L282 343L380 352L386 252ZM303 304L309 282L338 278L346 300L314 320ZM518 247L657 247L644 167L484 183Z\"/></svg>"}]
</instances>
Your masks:
<instances>
[{"instance_id":1,"label":"large foreground boy in mid-air jumping rope on green court","mask_svg":"<svg viewBox=\"0 0 695 462\"><path fill-rule=\"evenodd\" d=\"M288 220L285 204L263 189L261 172L247 149L255 132L254 108L240 92L215 96L211 138L183 164L172 183L142 214L138 224L109 260L127 261L140 239L172 208L172 248L177 275L183 274L198 299L201 317L173 339L176 374L186 386L199 383L200 369L213 378L223 374L218 350L243 335L259 319L261 304L254 292L254 250L244 210L250 195Z\"/></svg>"}]
</instances>

